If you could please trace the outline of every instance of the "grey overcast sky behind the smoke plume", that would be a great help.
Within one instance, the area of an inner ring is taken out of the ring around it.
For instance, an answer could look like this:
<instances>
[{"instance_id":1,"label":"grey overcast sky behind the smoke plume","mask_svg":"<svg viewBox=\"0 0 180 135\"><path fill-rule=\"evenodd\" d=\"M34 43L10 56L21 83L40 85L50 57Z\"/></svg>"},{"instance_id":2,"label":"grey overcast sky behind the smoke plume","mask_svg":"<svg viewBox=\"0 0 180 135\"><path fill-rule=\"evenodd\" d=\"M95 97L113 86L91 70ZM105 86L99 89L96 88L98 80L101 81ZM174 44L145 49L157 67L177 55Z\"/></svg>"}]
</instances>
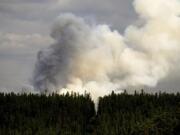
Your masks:
<instances>
[{"instance_id":1,"label":"grey overcast sky behind the smoke plume","mask_svg":"<svg viewBox=\"0 0 180 135\"><path fill-rule=\"evenodd\" d=\"M0 91L32 87L37 52L53 43L50 31L60 14L73 13L123 34L128 25L140 23L132 4L133 0L0 0ZM179 69L151 89L179 91Z\"/></svg>"}]
</instances>

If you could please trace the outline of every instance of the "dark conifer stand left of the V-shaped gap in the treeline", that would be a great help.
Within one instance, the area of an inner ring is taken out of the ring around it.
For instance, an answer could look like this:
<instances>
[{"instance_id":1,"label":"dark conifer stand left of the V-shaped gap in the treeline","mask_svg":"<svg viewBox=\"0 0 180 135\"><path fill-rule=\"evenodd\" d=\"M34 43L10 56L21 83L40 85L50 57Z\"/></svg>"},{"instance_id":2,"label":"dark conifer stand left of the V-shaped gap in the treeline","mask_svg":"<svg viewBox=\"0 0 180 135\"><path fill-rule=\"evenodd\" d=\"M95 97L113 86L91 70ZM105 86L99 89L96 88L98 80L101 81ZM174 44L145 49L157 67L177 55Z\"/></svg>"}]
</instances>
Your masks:
<instances>
[{"instance_id":1,"label":"dark conifer stand left of the V-shaped gap in the treeline","mask_svg":"<svg viewBox=\"0 0 180 135\"><path fill-rule=\"evenodd\" d=\"M84 135L94 114L88 94L0 94L0 135Z\"/></svg>"}]
</instances>

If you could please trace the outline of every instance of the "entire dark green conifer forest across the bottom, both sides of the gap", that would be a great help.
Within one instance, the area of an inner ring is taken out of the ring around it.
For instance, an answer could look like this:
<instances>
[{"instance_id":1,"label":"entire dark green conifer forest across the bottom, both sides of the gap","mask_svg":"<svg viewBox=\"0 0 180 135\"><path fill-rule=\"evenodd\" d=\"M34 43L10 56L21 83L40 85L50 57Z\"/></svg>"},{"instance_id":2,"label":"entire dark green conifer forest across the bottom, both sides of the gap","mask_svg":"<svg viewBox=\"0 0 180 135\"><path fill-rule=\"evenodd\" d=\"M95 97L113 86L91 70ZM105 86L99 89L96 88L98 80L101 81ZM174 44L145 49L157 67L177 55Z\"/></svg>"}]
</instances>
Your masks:
<instances>
[{"instance_id":1,"label":"entire dark green conifer forest across the bottom, both sides of the gap","mask_svg":"<svg viewBox=\"0 0 180 135\"><path fill-rule=\"evenodd\" d=\"M0 94L0 135L180 135L180 94Z\"/></svg>"}]
</instances>

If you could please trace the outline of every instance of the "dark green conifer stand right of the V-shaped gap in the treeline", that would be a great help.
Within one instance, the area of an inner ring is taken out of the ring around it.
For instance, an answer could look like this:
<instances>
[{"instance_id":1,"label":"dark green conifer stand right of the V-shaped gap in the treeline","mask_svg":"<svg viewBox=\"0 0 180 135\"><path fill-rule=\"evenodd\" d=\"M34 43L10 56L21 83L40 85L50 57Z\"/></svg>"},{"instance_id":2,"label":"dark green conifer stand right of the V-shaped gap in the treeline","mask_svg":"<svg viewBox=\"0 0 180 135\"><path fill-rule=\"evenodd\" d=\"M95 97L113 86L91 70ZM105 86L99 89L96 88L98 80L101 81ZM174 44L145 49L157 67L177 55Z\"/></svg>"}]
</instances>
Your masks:
<instances>
[{"instance_id":1,"label":"dark green conifer stand right of the V-shaped gap in the treeline","mask_svg":"<svg viewBox=\"0 0 180 135\"><path fill-rule=\"evenodd\" d=\"M99 100L97 135L180 135L180 94L112 93Z\"/></svg>"}]
</instances>

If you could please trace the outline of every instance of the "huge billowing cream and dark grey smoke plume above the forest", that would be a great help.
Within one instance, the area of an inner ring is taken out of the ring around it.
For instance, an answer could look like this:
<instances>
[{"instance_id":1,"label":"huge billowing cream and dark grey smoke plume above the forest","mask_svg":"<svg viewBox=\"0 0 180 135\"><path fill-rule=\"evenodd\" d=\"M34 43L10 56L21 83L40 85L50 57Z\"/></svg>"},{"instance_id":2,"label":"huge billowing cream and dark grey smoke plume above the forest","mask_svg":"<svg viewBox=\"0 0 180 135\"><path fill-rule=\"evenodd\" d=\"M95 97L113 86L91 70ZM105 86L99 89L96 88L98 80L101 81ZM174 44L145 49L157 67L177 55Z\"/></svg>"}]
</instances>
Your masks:
<instances>
[{"instance_id":1,"label":"huge billowing cream and dark grey smoke plume above the forest","mask_svg":"<svg viewBox=\"0 0 180 135\"><path fill-rule=\"evenodd\" d=\"M40 51L34 87L91 93L93 99L129 86L156 86L172 70L180 52L180 1L135 0L141 26L125 34L90 25L72 14L56 20L55 43Z\"/></svg>"}]
</instances>

